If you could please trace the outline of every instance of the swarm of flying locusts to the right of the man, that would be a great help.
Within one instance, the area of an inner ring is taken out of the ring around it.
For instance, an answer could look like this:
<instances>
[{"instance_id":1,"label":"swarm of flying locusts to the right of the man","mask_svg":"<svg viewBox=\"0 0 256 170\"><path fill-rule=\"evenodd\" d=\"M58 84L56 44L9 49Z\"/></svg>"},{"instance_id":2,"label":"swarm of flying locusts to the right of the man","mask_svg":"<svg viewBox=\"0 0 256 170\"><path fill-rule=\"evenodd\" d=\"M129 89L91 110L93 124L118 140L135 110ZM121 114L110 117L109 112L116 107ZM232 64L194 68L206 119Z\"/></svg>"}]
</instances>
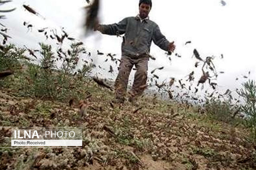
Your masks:
<instances>
[{"instance_id":1,"label":"swarm of flying locusts to the right of the man","mask_svg":"<svg viewBox=\"0 0 256 170\"><path fill-rule=\"evenodd\" d=\"M185 43L186 44L190 44L191 41L188 41ZM202 75L200 77L200 79L198 79L197 81L197 84L195 85L195 90L193 90L192 86L193 86L193 82L195 80L195 71L191 71L186 77L185 80L187 82L189 82L189 85L185 84L184 83L184 80L183 79L177 79L177 82L178 84L175 85L175 78L174 77L171 77L170 80L164 80L163 82L158 82L157 79L160 78L160 76L158 76L157 74L155 74L154 72L158 69L163 69L163 67L160 67L160 68L156 68L156 69L153 69L151 71L151 74L152 74L152 77L149 78L149 86L156 86L157 87L157 93L160 93L161 96L163 96L163 93L166 93L168 94L169 96L169 99L178 99L180 100L182 103L185 101L197 101L198 102L203 102L203 99L200 99L199 98L201 97L201 94L198 94L198 96L195 96L197 93L198 93L198 88L197 86L199 86L200 84L202 84L201 86L201 91L203 90L204 88L204 84L206 82L209 82L209 87L212 88L214 91L211 92L210 94L207 92L207 90L205 91L205 94L207 94L207 96L209 97L212 97L213 94L218 94L218 91L215 91L216 90L216 87L217 87L217 83L215 82L215 80L217 79L218 77L218 74L217 74L217 71L215 69L215 65L213 63L213 59L215 59L214 56L212 57L206 57L205 59L203 59L200 54L198 53L198 51L196 49L193 50L193 56L195 56L195 58L198 60L195 62L195 68L198 68L199 65L202 65L201 66L201 70L202 70ZM193 57L192 56L192 57ZM221 57L220 59L223 59L223 54L221 54ZM203 63L203 64L200 64L200 63ZM154 73L154 74L153 74ZM219 72L220 74L224 74L224 71L220 71ZM155 80L154 80L155 79ZM154 83L155 82L155 83ZM179 90L176 91L176 94L177 95L173 95L173 92L175 92L175 90L173 88L178 88ZM156 93L156 94L157 94ZM218 98L220 97L221 95L218 96ZM177 97L180 97L177 98ZM185 99L184 99L185 98ZM188 99L188 100L186 100Z\"/></svg>"}]
</instances>

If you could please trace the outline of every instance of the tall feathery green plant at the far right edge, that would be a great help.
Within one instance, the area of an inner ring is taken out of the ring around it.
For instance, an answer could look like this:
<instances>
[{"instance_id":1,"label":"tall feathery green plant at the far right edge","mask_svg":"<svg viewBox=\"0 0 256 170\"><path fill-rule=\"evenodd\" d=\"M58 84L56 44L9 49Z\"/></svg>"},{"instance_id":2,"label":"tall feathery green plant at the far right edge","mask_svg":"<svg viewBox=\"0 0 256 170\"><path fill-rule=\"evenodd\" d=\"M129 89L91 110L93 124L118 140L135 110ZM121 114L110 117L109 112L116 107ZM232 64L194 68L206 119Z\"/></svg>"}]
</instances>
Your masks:
<instances>
[{"instance_id":1,"label":"tall feathery green plant at the far right edge","mask_svg":"<svg viewBox=\"0 0 256 170\"><path fill-rule=\"evenodd\" d=\"M256 82L249 79L242 86L237 91L245 102L244 105L241 105L241 111L246 115L246 125L250 128L251 137L256 142Z\"/></svg>"}]
</instances>

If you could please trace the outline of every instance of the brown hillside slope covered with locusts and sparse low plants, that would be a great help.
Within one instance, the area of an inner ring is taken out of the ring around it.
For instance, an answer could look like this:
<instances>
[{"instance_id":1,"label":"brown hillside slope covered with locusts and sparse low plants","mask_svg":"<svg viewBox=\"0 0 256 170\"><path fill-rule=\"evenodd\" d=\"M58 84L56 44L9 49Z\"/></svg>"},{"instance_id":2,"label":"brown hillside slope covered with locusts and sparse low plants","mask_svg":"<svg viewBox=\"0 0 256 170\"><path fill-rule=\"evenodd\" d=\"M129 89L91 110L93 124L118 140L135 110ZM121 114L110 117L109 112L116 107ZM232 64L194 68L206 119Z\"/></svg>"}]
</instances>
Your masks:
<instances>
[{"instance_id":1,"label":"brown hillside slope covered with locusts and sparse low plants","mask_svg":"<svg viewBox=\"0 0 256 170\"><path fill-rule=\"evenodd\" d=\"M243 127L216 122L175 102L151 98L112 104L113 92L90 83L87 113L74 104L0 91L1 127L83 127L83 148L0 148L1 170L253 170L255 150ZM10 142L0 128L0 146Z\"/></svg>"}]
</instances>

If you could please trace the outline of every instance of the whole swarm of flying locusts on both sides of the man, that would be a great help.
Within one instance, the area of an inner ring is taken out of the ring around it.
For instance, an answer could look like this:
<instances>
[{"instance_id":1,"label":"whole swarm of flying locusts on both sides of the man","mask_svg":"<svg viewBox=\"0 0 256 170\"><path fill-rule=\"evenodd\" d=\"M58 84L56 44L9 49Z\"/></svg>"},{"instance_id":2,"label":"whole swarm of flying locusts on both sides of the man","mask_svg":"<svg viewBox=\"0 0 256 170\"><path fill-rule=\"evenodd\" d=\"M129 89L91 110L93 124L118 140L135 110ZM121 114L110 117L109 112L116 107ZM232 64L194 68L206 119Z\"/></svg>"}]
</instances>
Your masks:
<instances>
[{"instance_id":1,"label":"whole swarm of flying locusts on both sides of the man","mask_svg":"<svg viewBox=\"0 0 256 170\"><path fill-rule=\"evenodd\" d=\"M9 0L7 0L9 2ZM1 3L7 2L7 1L2 1L0 0L0 5ZM90 0L86 0L86 2L88 3L88 6L84 7L85 9L85 17L84 17L84 29L86 34L90 33L93 29L96 28L96 26L99 24L99 17L98 17L98 13L99 13L99 5L100 2L99 0L93 0L92 2ZM29 12L32 15L38 16L41 19L45 19L44 17L42 17L42 15L36 11L35 8L32 8L29 5L23 5L24 11ZM13 11L12 10L7 10L7 11ZM0 12L7 12L7 11L3 11L0 10ZM3 16L0 16L0 19L2 19ZM0 25L2 26L2 24L0 23ZM34 26L29 23L28 21L23 22L23 26L26 26L29 30L32 31L32 28L34 28ZM4 31L6 31L6 29L1 29L0 34L4 37L3 40L3 44L6 43L7 38L10 38L7 34L3 33ZM57 42L58 45L62 45L62 43L66 40L69 41L77 41L75 38L70 37L66 31L64 31L64 28L61 28L60 32L57 32L56 28L38 28L38 32L40 34L44 34L44 36L46 37L46 39L52 39L54 41ZM184 43L184 45L190 45L192 44L191 41L186 41L186 43ZM83 45L83 42L77 42L77 45ZM0 45L0 49L4 48L4 46L2 47ZM29 52L29 55L31 55L34 59L38 59L36 52L38 52L38 50L33 50L30 49L29 47L25 46L25 48L27 49L27 51ZM99 65L95 65L93 64L93 57L91 56L91 53L89 51L83 51L84 54L87 54L87 57L90 57L90 63L87 60L83 60L84 62L86 62L89 65L92 65L93 68L99 68L102 69L104 71L106 71L106 74L114 74L116 72L116 70L118 70L118 65L121 62L120 59L118 59L118 57L115 58L116 54L111 54L108 52L102 52L100 50L97 50L96 55L98 57L105 57L105 61L104 62L113 62L114 64L109 64L108 68L104 68L102 63ZM204 84L206 82L209 82L210 87L214 90L209 96L212 96L213 93L215 92L215 89L217 87L217 83L212 81L214 79L212 79L212 77L216 77L218 76L216 69L215 69L215 65L213 64L213 59L215 59L215 57L201 57L200 54L198 53L198 51L196 49L194 49L192 51L193 56L195 56L196 58L196 62L195 62L195 68L199 68L201 67L202 70L202 75L200 77L200 79L195 80L195 71L190 71L188 73L188 75L186 76L186 78L184 79L177 79L174 78L173 76L170 78L165 79L163 82L160 82L160 75L159 72L163 71L164 69L166 69L166 67L163 67L161 65L157 66L156 68L152 69L151 71L149 71L149 73L151 75L149 75L148 77L148 84L143 86L142 88L147 88L147 87L156 87L156 93L157 94L167 94L169 96L169 99L176 99L177 97L180 97L181 101L184 101L184 97L188 98L188 99L194 99L197 100L197 97L195 96L198 93L198 87L200 84L202 85L201 89L203 90L204 88ZM61 60L63 59L64 61L69 62L69 58L71 55L71 51L67 50L66 52L59 47L58 51L58 58L56 59ZM156 60L155 57L151 56L150 54L148 54L149 58L152 60ZM166 56L168 57L168 59L171 61L171 57L172 56L176 56L178 58L182 57L180 54L176 53L174 55L172 55L171 53L166 53ZM192 57L193 57L192 56ZM223 54L221 54L221 59L223 59ZM29 59L32 60L32 59ZM78 58L76 59L76 62L78 62ZM202 66L201 66L202 65ZM136 71L136 68L133 68L134 71ZM220 74L223 74L223 71L219 72ZM11 70L7 70L4 72L0 73L0 78L1 77L6 77L10 74L13 74L13 71ZM249 73L250 74L250 73ZM77 72L75 72L73 74L73 76L76 76ZM244 78L247 78L247 76L243 76ZM93 81L96 82L100 87L104 87L104 88L108 88L110 90L113 90L113 88L108 85L108 83L106 83L105 81L106 79L100 79L98 77L93 77ZM236 79L238 80L238 78ZM197 83L195 83L195 87L193 87L193 83L194 81L197 81ZM211 82L212 81L212 82ZM176 83L177 82L177 83ZM189 82L189 84L187 84L186 82ZM175 94L175 90L174 88L177 88L178 91L176 95ZM207 93L207 91L206 91ZM217 93L217 92L215 92Z\"/></svg>"}]
</instances>

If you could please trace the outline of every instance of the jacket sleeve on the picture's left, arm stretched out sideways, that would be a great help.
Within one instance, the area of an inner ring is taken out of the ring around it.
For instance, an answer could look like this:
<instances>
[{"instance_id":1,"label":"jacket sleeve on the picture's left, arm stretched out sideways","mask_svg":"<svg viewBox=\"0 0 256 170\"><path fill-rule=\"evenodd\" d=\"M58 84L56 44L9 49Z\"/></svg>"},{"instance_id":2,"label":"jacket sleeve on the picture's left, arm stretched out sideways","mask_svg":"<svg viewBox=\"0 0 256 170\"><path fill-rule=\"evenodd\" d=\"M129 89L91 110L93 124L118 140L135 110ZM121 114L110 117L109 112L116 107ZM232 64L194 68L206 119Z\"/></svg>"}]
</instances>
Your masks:
<instances>
[{"instance_id":1,"label":"jacket sleeve on the picture's left, arm stretched out sideways","mask_svg":"<svg viewBox=\"0 0 256 170\"><path fill-rule=\"evenodd\" d=\"M102 34L122 35L125 34L125 29L128 23L128 18L123 19L119 23L100 25Z\"/></svg>"}]
</instances>

